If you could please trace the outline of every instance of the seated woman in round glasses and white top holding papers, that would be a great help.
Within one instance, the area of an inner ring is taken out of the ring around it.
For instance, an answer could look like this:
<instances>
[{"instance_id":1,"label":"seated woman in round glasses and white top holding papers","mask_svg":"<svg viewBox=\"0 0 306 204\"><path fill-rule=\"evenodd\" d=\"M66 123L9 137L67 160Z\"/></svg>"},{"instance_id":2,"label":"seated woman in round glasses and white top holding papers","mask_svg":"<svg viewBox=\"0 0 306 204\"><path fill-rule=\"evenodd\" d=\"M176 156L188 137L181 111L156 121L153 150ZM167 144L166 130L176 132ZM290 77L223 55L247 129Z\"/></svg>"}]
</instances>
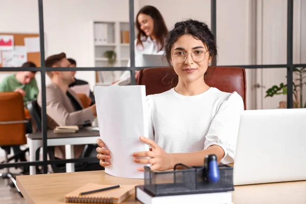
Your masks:
<instances>
[{"instance_id":1,"label":"seated woman in round glasses and white top holding papers","mask_svg":"<svg viewBox=\"0 0 306 204\"><path fill-rule=\"evenodd\" d=\"M203 165L211 154L223 164L234 162L243 100L237 92L222 92L203 80L217 56L207 24L196 20L175 23L166 39L165 56L179 82L169 91L147 96L150 139L140 140L152 150L135 152L134 161L152 164L152 170L172 169L177 163ZM100 139L97 144L100 165L111 165L105 162L110 158L109 150Z\"/></svg>"}]
</instances>

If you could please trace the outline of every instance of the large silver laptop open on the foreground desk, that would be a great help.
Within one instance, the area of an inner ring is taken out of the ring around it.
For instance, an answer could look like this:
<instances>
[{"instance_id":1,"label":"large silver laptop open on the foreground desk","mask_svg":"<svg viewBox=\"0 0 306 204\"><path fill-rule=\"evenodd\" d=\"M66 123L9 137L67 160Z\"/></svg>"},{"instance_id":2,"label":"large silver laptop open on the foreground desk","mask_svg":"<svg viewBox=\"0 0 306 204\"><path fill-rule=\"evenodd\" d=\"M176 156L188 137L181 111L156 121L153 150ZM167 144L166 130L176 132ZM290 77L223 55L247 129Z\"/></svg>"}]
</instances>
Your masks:
<instances>
[{"instance_id":1,"label":"large silver laptop open on the foreground desk","mask_svg":"<svg viewBox=\"0 0 306 204\"><path fill-rule=\"evenodd\" d=\"M241 115L234 185L306 180L306 109Z\"/></svg>"}]
</instances>

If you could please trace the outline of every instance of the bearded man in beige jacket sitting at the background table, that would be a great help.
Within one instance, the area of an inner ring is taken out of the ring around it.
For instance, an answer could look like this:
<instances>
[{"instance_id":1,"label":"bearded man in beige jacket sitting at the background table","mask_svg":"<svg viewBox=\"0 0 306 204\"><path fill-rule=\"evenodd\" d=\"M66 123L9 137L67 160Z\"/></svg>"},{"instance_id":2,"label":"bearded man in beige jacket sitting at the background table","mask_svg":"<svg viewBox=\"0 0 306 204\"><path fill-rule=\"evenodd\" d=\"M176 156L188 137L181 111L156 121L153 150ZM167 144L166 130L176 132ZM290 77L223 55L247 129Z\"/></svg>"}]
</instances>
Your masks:
<instances>
[{"instance_id":1,"label":"bearded man in beige jacket sitting at the background table","mask_svg":"<svg viewBox=\"0 0 306 204\"><path fill-rule=\"evenodd\" d=\"M50 56L45 61L46 67L69 67L70 62L65 53ZM73 71L48 71L51 82L46 85L46 111L47 126L55 129L56 126L78 125L82 126L93 121L96 107L92 105L83 108L78 95L69 89L74 82ZM38 94L38 105L41 107L41 92ZM74 157L79 158L84 145L74 145ZM55 147L55 157L64 159L64 146Z\"/></svg>"}]
</instances>

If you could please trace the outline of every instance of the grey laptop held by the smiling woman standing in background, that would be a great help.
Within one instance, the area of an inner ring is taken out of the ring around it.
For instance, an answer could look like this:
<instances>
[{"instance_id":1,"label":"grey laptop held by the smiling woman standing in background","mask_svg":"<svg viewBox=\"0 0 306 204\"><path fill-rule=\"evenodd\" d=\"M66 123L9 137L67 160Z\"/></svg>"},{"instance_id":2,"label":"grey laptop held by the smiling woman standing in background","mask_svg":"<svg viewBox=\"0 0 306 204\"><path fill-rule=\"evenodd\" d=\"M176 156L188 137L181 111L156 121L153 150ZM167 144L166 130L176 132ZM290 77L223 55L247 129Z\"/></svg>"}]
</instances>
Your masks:
<instances>
[{"instance_id":1,"label":"grey laptop held by the smiling woman standing in background","mask_svg":"<svg viewBox=\"0 0 306 204\"><path fill-rule=\"evenodd\" d=\"M160 67L169 66L163 55L139 55L135 57L135 65L137 67Z\"/></svg>"}]
</instances>

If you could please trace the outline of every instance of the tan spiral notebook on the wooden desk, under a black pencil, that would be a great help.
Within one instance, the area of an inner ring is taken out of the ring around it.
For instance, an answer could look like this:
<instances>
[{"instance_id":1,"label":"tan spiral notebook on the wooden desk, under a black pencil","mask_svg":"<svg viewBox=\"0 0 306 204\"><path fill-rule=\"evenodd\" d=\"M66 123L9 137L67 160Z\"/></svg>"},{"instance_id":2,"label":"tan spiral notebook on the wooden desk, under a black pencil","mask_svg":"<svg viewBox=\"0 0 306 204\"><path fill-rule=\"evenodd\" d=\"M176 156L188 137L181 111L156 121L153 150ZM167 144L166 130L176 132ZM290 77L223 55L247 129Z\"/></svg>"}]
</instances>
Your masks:
<instances>
[{"instance_id":1,"label":"tan spiral notebook on the wooden desk, under a black pencil","mask_svg":"<svg viewBox=\"0 0 306 204\"><path fill-rule=\"evenodd\" d=\"M120 185L120 188L91 193L87 195L79 195L82 192L107 188L114 185L99 185L99 184L86 184L65 195L65 202L74 203L120 203L129 197L135 191L136 185Z\"/></svg>"}]
</instances>

